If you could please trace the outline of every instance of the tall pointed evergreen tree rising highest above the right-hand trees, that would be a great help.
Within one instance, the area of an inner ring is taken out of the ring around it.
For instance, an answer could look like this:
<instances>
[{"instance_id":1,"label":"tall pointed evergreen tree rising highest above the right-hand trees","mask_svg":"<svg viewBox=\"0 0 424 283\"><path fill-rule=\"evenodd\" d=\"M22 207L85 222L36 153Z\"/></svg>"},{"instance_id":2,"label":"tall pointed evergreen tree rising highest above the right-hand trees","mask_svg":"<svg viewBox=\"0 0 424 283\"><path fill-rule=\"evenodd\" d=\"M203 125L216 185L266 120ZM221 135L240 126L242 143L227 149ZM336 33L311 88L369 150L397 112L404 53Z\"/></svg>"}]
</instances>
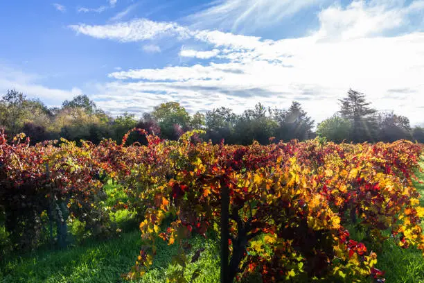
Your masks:
<instances>
[{"instance_id":1,"label":"tall pointed evergreen tree rising highest above the right-hand trees","mask_svg":"<svg viewBox=\"0 0 424 283\"><path fill-rule=\"evenodd\" d=\"M365 94L349 89L348 95L340 101L340 115L351 121L351 137L354 142L373 141L376 136L376 110L369 107Z\"/></svg>"}]
</instances>

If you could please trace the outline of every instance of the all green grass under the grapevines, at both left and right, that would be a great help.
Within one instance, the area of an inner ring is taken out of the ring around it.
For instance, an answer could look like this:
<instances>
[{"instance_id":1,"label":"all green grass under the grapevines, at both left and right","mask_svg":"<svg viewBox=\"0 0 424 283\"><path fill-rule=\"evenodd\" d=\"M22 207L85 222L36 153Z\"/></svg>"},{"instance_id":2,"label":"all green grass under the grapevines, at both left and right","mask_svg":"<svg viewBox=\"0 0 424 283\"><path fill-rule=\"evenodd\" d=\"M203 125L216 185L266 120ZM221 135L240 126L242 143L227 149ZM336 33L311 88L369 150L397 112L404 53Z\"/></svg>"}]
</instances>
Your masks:
<instances>
[{"instance_id":1,"label":"all green grass under the grapevines, at both left and right","mask_svg":"<svg viewBox=\"0 0 424 283\"><path fill-rule=\"evenodd\" d=\"M424 160L421 162L424 169ZM424 180L424 173L418 172ZM424 205L424 185L415 184L421 192ZM121 198L121 191L110 187L107 194ZM113 200L115 201L115 200ZM110 203L112 204L112 202ZM109 204L109 205L110 205ZM125 217L124 217L125 218ZM189 271L200 268L202 274L196 282L219 282L219 250L216 240L195 237L191 239L193 250L204 247L200 260L189 265ZM108 241L87 241L82 246L67 250L38 250L24 256L7 259L0 266L0 283L3 282L123 282L120 275L130 271L141 246L140 232L126 232L118 239ZM158 254L152 269L139 282L166 282L167 276L175 271L171 257L177 253L177 246L168 246L159 240ZM387 282L424 282L424 259L415 248L403 250L391 241L384 243L383 252L378 255L376 266L386 271ZM258 281L258 280L254 280Z\"/></svg>"}]
</instances>

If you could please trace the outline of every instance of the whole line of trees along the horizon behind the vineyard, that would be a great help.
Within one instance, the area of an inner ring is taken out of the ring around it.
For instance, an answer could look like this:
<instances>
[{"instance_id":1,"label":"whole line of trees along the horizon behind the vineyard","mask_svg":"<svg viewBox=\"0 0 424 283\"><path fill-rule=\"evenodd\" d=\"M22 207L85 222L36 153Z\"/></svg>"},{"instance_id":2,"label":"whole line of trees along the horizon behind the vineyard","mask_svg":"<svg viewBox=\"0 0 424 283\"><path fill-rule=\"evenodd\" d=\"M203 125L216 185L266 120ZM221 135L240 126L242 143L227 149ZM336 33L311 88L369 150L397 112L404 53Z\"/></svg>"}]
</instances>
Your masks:
<instances>
[{"instance_id":1,"label":"whole line of trees along the horizon behind the vineyard","mask_svg":"<svg viewBox=\"0 0 424 283\"><path fill-rule=\"evenodd\" d=\"M177 102L161 103L137 119L124 113L112 117L99 109L88 96L80 95L64 101L60 108L48 108L39 99L27 98L15 89L0 101L0 128L9 137L24 132L32 143L61 137L79 142L80 139L98 144L103 138L121 141L132 128L143 128L164 139L178 139L187 130L203 129L204 140L218 144L260 144L291 139L325 138L335 142L376 142L409 139L424 142L424 128L412 128L409 119L394 112L378 112L366 101L364 94L349 89L339 100L340 109L332 117L317 124L293 101L287 109L265 107L262 103L242 114L231 108L215 108L205 113L188 111ZM131 135L128 142L145 142Z\"/></svg>"}]
</instances>

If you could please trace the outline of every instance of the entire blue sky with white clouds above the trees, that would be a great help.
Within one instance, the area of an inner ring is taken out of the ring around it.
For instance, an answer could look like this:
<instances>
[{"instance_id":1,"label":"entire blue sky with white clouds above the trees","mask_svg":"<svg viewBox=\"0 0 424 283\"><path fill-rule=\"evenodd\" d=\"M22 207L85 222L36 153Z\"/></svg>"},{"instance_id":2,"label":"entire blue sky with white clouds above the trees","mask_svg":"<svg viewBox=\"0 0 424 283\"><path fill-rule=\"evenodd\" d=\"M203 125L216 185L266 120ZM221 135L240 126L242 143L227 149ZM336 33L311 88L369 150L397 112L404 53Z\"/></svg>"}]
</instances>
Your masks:
<instances>
[{"instance_id":1,"label":"entire blue sky with white clouds above the trees","mask_svg":"<svg viewBox=\"0 0 424 283\"><path fill-rule=\"evenodd\" d=\"M141 116L297 100L319 122L351 87L424 123L424 0L15 0L0 27L0 92L47 105L87 94Z\"/></svg>"}]
</instances>

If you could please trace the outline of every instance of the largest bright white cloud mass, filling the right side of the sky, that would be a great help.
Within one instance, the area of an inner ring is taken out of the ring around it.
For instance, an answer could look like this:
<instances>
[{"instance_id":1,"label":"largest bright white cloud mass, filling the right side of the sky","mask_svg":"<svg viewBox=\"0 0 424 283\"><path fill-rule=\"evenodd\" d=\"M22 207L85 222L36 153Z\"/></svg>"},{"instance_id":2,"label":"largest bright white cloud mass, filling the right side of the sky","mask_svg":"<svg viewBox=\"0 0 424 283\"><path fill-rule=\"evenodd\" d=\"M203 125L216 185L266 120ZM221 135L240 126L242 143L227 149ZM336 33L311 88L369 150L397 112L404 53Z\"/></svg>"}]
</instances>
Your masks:
<instances>
[{"instance_id":1,"label":"largest bright white cloud mass, filling the right side of the sky","mask_svg":"<svg viewBox=\"0 0 424 283\"><path fill-rule=\"evenodd\" d=\"M109 108L116 102L119 109L131 105L149 110L141 105L180 101L192 110L228 106L242 111L259 101L281 108L297 100L321 121L337 111L337 99L352 87L364 92L376 108L396 110L414 124L423 122L424 33L419 29L404 35L387 33L405 26L412 12L424 8L419 3L403 6L402 1L375 0L356 1L345 8L330 6L319 12L315 32L283 40L197 31L146 19L71 28L121 42L164 36L195 40L211 51L182 49L179 55L220 59L219 63L109 74L116 81L98 92L99 97L115 97ZM134 103L125 102L120 94L131 94L125 99Z\"/></svg>"}]
</instances>

